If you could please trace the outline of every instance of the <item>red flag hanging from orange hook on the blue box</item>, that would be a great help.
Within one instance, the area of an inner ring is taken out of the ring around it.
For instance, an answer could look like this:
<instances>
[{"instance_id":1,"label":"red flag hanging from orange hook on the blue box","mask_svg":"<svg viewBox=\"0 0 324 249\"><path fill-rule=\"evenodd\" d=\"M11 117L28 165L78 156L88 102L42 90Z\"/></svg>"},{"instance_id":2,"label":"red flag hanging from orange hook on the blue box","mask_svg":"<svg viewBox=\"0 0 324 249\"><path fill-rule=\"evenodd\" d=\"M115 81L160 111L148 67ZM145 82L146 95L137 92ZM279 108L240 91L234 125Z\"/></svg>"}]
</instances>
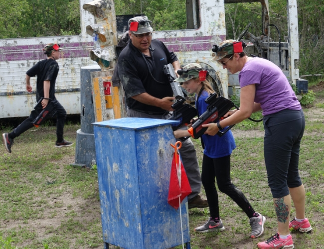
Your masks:
<instances>
[{"instance_id":1,"label":"red flag hanging from orange hook on the blue box","mask_svg":"<svg viewBox=\"0 0 324 249\"><path fill-rule=\"evenodd\" d=\"M169 193L167 196L167 203L173 208L178 209L179 198L180 203L183 199L191 193L191 188L187 175L184 171L180 155L176 152L173 153L171 174L170 174L170 184Z\"/></svg>"}]
</instances>

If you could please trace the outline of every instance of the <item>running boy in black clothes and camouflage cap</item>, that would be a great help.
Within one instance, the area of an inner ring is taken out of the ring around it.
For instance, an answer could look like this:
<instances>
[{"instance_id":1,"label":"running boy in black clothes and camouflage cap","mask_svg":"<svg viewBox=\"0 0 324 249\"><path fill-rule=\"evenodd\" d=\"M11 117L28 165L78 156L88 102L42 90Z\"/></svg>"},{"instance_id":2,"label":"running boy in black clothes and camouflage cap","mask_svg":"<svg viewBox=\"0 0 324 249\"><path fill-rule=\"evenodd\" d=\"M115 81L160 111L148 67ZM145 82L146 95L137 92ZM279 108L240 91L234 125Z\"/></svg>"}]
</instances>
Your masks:
<instances>
[{"instance_id":1,"label":"running boy in black clothes and camouflage cap","mask_svg":"<svg viewBox=\"0 0 324 249\"><path fill-rule=\"evenodd\" d=\"M61 104L55 99L55 81L59 71L59 66L56 62L61 56L60 44L50 43L43 49L44 54L47 55L47 59L37 62L32 68L26 72L26 90L27 92L32 91L30 86L30 77L37 75L36 83L36 100L41 100L41 106L36 106L35 109L30 113L30 116L19 124L12 132L3 133L2 138L6 150L11 153L11 146L13 139L25 132L27 129L33 127L32 122L37 118L42 109L45 109L48 102L51 101L54 111L56 111L56 136L57 140L55 147L68 147L73 144L63 139L63 128L65 124L66 111Z\"/></svg>"}]
</instances>

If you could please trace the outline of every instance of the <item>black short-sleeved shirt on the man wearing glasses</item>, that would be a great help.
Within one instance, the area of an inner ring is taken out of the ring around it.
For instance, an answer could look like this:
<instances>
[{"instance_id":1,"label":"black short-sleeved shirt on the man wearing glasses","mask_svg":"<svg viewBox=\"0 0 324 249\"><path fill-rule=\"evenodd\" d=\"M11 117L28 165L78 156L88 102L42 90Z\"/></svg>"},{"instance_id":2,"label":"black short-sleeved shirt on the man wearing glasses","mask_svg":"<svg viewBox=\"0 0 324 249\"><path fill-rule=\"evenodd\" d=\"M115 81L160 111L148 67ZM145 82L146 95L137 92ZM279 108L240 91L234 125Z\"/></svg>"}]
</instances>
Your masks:
<instances>
[{"instance_id":1,"label":"black short-sleeved shirt on the man wearing glasses","mask_svg":"<svg viewBox=\"0 0 324 249\"><path fill-rule=\"evenodd\" d=\"M163 72L163 66L177 61L176 55L159 40L152 40L150 52L152 57L142 54L130 42L118 58L118 76L123 84L126 103L130 109L163 113L165 110L159 107L146 105L131 98L141 93L148 93L159 99L173 96L171 85Z\"/></svg>"}]
</instances>

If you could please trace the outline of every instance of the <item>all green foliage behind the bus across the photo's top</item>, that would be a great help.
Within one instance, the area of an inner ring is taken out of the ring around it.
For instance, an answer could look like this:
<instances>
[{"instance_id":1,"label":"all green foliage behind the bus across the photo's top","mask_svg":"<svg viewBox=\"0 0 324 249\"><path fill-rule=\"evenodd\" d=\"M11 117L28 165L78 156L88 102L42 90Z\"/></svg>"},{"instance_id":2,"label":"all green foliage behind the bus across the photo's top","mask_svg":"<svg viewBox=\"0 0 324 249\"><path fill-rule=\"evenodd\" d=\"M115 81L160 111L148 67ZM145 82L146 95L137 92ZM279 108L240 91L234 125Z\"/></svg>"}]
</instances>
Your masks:
<instances>
[{"instance_id":1,"label":"all green foliage behind the bus across the photo's top","mask_svg":"<svg viewBox=\"0 0 324 249\"><path fill-rule=\"evenodd\" d=\"M80 30L79 0L0 0L0 39L75 35ZM186 2L183 0L114 0L115 12L146 14L155 30L186 28ZM299 69L301 75L324 74L324 5L322 0L297 0L300 34ZM269 0L270 23L288 34L287 2ZM251 22L249 32L263 34L261 3L225 4L227 38L237 38ZM270 37L278 41L278 32L270 27Z\"/></svg>"}]
</instances>

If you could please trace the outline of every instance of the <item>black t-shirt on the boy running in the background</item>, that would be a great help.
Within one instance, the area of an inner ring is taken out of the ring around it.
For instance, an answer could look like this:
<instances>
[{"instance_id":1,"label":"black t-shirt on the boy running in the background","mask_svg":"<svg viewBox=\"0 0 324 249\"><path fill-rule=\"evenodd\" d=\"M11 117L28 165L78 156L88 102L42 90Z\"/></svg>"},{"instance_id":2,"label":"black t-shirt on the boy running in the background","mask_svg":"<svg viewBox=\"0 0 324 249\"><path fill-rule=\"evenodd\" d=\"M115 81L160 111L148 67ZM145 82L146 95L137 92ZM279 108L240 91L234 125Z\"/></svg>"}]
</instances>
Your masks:
<instances>
[{"instance_id":1,"label":"black t-shirt on the boy running in the background","mask_svg":"<svg viewBox=\"0 0 324 249\"><path fill-rule=\"evenodd\" d=\"M53 59L38 61L26 74L30 77L37 75L36 99L37 101L44 97L44 81L50 81L49 98L55 99L55 81L58 74L59 66Z\"/></svg>"}]
</instances>

